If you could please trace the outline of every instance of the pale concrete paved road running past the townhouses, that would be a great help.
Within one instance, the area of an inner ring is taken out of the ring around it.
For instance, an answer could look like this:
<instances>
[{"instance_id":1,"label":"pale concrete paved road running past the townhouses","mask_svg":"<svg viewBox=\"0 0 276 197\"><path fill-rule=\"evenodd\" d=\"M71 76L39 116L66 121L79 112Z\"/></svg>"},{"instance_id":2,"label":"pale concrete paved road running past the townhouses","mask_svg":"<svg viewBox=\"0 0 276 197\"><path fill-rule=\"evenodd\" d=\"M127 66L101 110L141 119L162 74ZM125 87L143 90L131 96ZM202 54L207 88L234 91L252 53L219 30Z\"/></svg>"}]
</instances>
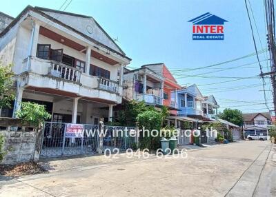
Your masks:
<instances>
[{"instance_id":1,"label":"pale concrete paved road running past the townhouses","mask_svg":"<svg viewBox=\"0 0 276 197\"><path fill-rule=\"evenodd\" d=\"M241 141L190 149L188 158L54 160L49 174L0 181L0 196L276 196L275 152Z\"/></svg>"}]
</instances>

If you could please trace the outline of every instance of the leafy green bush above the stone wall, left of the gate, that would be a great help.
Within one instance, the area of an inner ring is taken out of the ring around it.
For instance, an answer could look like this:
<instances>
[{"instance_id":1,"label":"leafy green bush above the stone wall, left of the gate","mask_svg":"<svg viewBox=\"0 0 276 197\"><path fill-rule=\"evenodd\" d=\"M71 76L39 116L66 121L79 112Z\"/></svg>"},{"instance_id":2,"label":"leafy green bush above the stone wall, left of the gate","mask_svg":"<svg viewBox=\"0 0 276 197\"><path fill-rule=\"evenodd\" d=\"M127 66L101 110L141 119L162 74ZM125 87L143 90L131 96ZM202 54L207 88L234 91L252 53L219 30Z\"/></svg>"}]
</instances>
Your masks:
<instances>
[{"instance_id":1,"label":"leafy green bush above the stone wall, left of the gate","mask_svg":"<svg viewBox=\"0 0 276 197\"><path fill-rule=\"evenodd\" d=\"M22 118L23 121L27 121L34 126L41 127L44 121L51 118L51 115L46 112L45 105L22 102L21 109L17 111L17 117Z\"/></svg>"}]
</instances>

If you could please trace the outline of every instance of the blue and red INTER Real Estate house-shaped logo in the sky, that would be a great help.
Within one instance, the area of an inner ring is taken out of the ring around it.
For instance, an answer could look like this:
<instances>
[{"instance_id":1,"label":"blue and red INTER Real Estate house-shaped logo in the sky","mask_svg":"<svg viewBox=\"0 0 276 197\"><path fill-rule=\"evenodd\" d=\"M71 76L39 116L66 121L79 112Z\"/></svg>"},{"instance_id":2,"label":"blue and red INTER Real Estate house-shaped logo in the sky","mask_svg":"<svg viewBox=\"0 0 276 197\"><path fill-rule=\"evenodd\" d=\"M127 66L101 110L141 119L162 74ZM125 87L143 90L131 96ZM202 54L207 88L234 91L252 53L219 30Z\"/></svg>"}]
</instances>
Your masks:
<instances>
[{"instance_id":1,"label":"blue and red INTER Real Estate house-shaped logo in the sky","mask_svg":"<svg viewBox=\"0 0 276 197\"><path fill-rule=\"evenodd\" d=\"M193 40L224 40L224 22L228 21L206 12L188 22L193 22Z\"/></svg>"}]
</instances>

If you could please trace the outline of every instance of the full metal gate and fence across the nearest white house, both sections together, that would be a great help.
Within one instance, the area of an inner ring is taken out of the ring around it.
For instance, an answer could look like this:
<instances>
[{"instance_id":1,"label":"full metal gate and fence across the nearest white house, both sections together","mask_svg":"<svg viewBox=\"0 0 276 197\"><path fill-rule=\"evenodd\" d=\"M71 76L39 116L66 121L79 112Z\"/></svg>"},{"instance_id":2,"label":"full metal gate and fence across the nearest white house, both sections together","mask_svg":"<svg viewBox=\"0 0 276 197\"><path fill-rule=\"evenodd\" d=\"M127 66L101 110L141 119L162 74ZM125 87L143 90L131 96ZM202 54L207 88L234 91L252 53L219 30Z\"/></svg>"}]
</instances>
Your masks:
<instances>
[{"instance_id":1,"label":"full metal gate and fence across the nearest white house, both sections together","mask_svg":"<svg viewBox=\"0 0 276 197\"><path fill-rule=\"evenodd\" d=\"M79 124L80 133L68 135L71 123L46 122L43 127L43 139L41 145L41 158L95 154L100 147L101 132L103 132L102 147L128 149L135 143L135 137L130 132L135 127L103 126ZM72 134L72 133L71 133Z\"/></svg>"}]
</instances>

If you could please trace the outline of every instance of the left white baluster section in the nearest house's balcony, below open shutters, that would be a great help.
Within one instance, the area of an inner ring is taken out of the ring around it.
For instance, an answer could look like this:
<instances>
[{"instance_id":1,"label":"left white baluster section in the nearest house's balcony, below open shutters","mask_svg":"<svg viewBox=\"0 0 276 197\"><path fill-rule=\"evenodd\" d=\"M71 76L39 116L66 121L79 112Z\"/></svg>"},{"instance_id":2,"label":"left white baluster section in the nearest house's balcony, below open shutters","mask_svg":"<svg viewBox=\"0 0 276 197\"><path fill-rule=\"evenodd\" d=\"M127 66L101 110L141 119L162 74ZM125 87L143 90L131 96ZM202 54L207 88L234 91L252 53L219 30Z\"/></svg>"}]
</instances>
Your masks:
<instances>
[{"instance_id":1,"label":"left white baluster section in the nearest house's balcony, below open shutters","mask_svg":"<svg viewBox=\"0 0 276 197\"><path fill-rule=\"evenodd\" d=\"M52 76L59 77L61 79L66 79L69 81L75 81L79 83L81 79L81 70L77 68L72 68L71 66L64 65L61 63L51 62L50 74Z\"/></svg>"}]
</instances>

